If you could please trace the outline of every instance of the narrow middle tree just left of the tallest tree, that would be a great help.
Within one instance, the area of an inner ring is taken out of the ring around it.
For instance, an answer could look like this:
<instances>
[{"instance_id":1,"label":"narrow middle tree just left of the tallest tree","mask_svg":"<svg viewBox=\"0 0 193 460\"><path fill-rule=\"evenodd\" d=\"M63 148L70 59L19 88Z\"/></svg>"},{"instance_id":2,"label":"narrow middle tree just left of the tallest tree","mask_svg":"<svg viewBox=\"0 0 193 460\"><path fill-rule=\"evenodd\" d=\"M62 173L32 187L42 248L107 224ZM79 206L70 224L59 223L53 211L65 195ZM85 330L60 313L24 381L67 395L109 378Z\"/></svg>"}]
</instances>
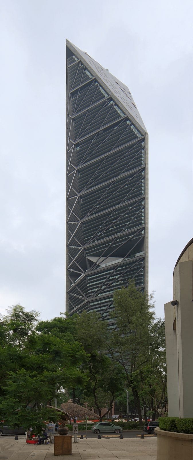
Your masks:
<instances>
[{"instance_id":1,"label":"narrow middle tree just left of the tallest tree","mask_svg":"<svg viewBox=\"0 0 193 460\"><path fill-rule=\"evenodd\" d=\"M88 382L82 397L90 407L98 410L102 420L112 409L116 394L123 385L123 374L119 364L113 362L105 351L107 324L95 313L83 312L77 317L77 338L87 352L85 372ZM106 408L102 414L102 408Z\"/></svg>"}]
</instances>

